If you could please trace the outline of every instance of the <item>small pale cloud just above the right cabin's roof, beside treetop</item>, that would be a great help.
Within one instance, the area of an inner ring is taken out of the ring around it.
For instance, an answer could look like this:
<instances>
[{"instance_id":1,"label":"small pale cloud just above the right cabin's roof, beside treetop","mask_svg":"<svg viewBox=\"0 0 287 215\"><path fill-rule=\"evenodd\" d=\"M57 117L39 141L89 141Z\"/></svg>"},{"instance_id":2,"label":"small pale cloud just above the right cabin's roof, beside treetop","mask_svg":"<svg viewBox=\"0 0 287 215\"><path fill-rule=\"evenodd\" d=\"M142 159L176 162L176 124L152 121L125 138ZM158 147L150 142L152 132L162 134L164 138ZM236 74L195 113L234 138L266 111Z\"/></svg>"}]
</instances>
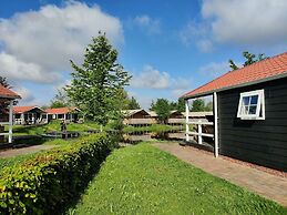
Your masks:
<instances>
[{"instance_id":1,"label":"small pale cloud just above the right cabin's roof, beside treetop","mask_svg":"<svg viewBox=\"0 0 287 215\"><path fill-rule=\"evenodd\" d=\"M212 78L217 78L230 70L229 64L227 62L216 63L211 62L202 68L199 68L199 73L207 74Z\"/></svg>"}]
</instances>

